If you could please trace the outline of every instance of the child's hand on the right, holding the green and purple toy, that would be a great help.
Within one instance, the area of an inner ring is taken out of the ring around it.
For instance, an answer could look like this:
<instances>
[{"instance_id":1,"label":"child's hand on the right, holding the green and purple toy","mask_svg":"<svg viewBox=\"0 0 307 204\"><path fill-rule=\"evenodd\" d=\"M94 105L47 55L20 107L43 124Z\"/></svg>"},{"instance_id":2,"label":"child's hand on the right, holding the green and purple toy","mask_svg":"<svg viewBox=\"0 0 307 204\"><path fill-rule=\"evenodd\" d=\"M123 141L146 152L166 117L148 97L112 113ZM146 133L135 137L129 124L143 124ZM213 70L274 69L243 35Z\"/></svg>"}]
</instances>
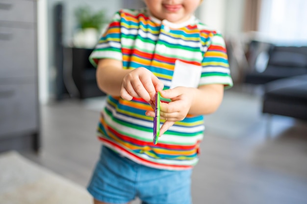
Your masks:
<instances>
[{"instance_id":1,"label":"child's hand on the right, holding the green and purple toy","mask_svg":"<svg viewBox=\"0 0 307 204\"><path fill-rule=\"evenodd\" d=\"M160 104L160 118L165 122L161 126L159 136L163 135L175 122L186 117L192 105L193 90L193 88L176 87L160 91L162 97L170 98L172 102ZM154 117L154 112L147 111L146 115Z\"/></svg>"}]
</instances>

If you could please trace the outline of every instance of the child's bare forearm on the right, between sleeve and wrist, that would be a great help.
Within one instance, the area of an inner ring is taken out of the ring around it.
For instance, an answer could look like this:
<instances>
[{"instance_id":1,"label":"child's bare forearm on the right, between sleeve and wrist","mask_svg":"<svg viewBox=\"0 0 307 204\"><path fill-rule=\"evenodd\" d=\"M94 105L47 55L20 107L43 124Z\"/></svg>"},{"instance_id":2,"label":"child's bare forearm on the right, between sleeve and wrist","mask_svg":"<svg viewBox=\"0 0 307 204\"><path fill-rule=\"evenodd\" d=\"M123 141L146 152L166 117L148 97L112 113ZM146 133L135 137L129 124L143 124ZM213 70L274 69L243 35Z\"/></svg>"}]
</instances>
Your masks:
<instances>
[{"instance_id":1,"label":"child's bare forearm on the right, between sleeve and wrist","mask_svg":"<svg viewBox=\"0 0 307 204\"><path fill-rule=\"evenodd\" d=\"M193 100L189 114L204 115L214 113L220 106L224 86L219 84L204 85L198 89L191 88Z\"/></svg>"}]
</instances>

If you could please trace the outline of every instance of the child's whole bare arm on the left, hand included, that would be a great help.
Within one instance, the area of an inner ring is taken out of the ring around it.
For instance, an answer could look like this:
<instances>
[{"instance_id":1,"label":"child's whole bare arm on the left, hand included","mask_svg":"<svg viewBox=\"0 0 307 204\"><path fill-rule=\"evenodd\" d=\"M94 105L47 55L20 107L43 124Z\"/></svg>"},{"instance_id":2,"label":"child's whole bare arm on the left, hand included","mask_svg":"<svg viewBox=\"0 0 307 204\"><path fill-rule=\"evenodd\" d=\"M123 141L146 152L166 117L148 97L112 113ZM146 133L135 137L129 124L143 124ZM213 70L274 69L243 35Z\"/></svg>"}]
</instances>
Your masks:
<instances>
[{"instance_id":1,"label":"child's whole bare arm on the left, hand included","mask_svg":"<svg viewBox=\"0 0 307 204\"><path fill-rule=\"evenodd\" d=\"M114 59L99 61L96 79L103 92L126 100L136 97L151 102L155 92L161 91L164 86L148 69L123 69L122 62Z\"/></svg>"}]
</instances>

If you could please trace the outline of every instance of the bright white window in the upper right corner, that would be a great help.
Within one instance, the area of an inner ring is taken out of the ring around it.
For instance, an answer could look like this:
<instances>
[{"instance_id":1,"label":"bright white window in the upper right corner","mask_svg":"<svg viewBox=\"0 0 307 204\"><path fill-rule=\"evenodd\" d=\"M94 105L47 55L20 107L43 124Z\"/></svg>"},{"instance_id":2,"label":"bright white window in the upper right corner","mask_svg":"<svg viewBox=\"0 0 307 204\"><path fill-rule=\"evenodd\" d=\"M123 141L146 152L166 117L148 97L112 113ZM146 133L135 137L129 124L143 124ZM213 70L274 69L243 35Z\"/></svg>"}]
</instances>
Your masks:
<instances>
[{"instance_id":1,"label":"bright white window in the upper right corner","mask_svg":"<svg viewBox=\"0 0 307 204\"><path fill-rule=\"evenodd\" d=\"M307 44L307 0L262 0L259 31L277 44Z\"/></svg>"}]
</instances>

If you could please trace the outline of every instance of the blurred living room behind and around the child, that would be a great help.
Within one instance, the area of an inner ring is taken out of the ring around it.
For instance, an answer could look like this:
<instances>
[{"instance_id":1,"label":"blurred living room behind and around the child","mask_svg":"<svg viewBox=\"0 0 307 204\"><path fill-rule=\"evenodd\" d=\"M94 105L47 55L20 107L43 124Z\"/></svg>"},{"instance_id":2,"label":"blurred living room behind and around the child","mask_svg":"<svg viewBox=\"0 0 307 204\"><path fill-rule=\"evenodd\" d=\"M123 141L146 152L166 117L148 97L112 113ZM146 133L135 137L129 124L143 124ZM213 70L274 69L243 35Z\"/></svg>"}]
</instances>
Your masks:
<instances>
[{"instance_id":1,"label":"blurred living room behind and around the child","mask_svg":"<svg viewBox=\"0 0 307 204\"><path fill-rule=\"evenodd\" d=\"M105 94L88 56L142 0L0 0L0 203L91 203ZM307 203L307 1L203 0L233 88L205 116L194 204ZM139 204L139 200L132 202Z\"/></svg>"}]
</instances>

